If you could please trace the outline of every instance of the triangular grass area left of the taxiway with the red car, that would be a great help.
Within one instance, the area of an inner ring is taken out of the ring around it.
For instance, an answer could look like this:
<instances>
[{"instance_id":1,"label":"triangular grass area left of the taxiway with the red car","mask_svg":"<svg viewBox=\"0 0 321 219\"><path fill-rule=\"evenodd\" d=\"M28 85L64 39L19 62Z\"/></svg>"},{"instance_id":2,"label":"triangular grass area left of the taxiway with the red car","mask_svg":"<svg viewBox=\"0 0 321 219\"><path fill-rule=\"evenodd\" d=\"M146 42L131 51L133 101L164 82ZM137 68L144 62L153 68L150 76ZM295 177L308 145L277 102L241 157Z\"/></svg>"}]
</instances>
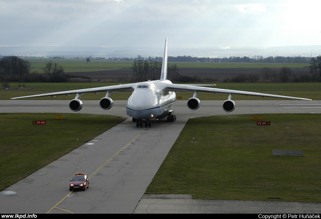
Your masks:
<instances>
[{"instance_id":1,"label":"triangular grass area left of the taxiway with the red car","mask_svg":"<svg viewBox=\"0 0 321 219\"><path fill-rule=\"evenodd\" d=\"M125 120L72 113L56 119L56 115L0 113L0 191ZM46 125L33 125L34 120L45 120Z\"/></svg>"}]
</instances>

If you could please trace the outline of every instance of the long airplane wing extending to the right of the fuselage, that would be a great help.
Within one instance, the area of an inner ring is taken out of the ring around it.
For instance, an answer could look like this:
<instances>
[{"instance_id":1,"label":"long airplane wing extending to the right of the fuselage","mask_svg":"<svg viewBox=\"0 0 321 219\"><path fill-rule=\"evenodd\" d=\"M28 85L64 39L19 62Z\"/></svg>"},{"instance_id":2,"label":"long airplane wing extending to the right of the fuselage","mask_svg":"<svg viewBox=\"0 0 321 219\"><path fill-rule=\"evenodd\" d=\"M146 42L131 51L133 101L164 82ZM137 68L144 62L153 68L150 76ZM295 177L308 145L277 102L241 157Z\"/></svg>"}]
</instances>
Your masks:
<instances>
[{"instance_id":1,"label":"long airplane wing extending to the right of the fuselage","mask_svg":"<svg viewBox=\"0 0 321 219\"><path fill-rule=\"evenodd\" d=\"M274 94L267 94L267 93L255 93L255 92L248 92L248 91L200 87L200 86L193 86L193 85L178 85L178 84L166 84L166 85L167 85L167 88L164 89L166 91L226 93L226 94L240 94L240 95L251 95L251 96L262 96L262 97L289 98L289 99L297 99L297 100L311 100L311 99L300 98L300 97L290 97L290 96L274 95Z\"/></svg>"}]
</instances>

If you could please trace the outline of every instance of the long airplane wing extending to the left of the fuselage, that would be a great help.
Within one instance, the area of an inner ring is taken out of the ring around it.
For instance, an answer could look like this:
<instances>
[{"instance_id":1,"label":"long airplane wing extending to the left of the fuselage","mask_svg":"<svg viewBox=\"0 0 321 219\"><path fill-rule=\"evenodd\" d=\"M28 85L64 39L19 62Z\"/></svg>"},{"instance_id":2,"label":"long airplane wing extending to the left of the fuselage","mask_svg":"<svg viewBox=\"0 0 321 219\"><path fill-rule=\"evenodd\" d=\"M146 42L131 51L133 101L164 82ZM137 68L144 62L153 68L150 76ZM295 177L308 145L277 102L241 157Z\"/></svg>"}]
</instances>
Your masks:
<instances>
[{"instance_id":1,"label":"long airplane wing extending to the left of the fuselage","mask_svg":"<svg viewBox=\"0 0 321 219\"><path fill-rule=\"evenodd\" d=\"M43 97L43 96L56 96L56 95L69 95L69 94L76 94L76 93L99 93L99 92L125 92L125 91L134 91L133 84L125 84L125 85L112 85L112 86L105 86L105 87L95 87L95 88L86 88L86 89L79 89L79 90L72 90L72 91L61 91L61 92L54 92L54 93L43 93L43 94L36 94L30 96L23 96L23 97L14 97L11 99L21 99L21 98L29 98L29 97Z\"/></svg>"}]
</instances>

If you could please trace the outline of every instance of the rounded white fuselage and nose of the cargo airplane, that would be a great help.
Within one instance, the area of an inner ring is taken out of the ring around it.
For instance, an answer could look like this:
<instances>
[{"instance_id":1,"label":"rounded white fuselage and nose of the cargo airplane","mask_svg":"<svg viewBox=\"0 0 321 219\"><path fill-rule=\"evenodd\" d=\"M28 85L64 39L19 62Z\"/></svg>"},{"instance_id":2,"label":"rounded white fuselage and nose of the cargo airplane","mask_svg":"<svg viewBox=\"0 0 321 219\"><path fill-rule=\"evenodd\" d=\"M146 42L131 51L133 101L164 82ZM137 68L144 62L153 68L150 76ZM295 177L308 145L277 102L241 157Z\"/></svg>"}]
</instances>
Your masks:
<instances>
[{"instance_id":1,"label":"rounded white fuselage and nose of the cargo airplane","mask_svg":"<svg viewBox=\"0 0 321 219\"><path fill-rule=\"evenodd\" d=\"M126 104L127 115L136 119L160 119L168 116L175 107L175 92L164 92L165 81L148 81L134 84L132 95Z\"/></svg>"}]
</instances>

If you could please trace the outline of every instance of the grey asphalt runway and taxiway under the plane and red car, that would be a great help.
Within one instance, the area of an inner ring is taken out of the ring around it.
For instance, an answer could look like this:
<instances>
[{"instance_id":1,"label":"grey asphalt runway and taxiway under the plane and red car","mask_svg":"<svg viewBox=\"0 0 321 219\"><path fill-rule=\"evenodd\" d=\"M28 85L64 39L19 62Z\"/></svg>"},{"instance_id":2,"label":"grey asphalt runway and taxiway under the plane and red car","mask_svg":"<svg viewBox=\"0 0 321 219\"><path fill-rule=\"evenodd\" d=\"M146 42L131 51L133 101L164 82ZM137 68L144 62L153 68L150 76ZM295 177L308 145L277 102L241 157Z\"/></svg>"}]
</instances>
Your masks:
<instances>
[{"instance_id":1,"label":"grey asphalt runway and taxiway under the plane and red car","mask_svg":"<svg viewBox=\"0 0 321 219\"><path fill-rule=\"evenodd\" d=\"M1 112L72 113L69 101L0 101ZM98 101L83 101L75 113L126 115L126 101L110 110ZM137 128L128 118L0 192L0 213L320 213L321 203L279 201L195 200L191 195L144 195L189 118L225 115L223 101L202 101L195 111L178 101L177 120L158 120L151 128ZM235 101L230 114L320 113L321 101ZM81 130L80 134L81 134ZM19 139L17 139L19 141ZM90 186L69 191L74 173L84 172Z\"/></svg>"}]
</instances>

